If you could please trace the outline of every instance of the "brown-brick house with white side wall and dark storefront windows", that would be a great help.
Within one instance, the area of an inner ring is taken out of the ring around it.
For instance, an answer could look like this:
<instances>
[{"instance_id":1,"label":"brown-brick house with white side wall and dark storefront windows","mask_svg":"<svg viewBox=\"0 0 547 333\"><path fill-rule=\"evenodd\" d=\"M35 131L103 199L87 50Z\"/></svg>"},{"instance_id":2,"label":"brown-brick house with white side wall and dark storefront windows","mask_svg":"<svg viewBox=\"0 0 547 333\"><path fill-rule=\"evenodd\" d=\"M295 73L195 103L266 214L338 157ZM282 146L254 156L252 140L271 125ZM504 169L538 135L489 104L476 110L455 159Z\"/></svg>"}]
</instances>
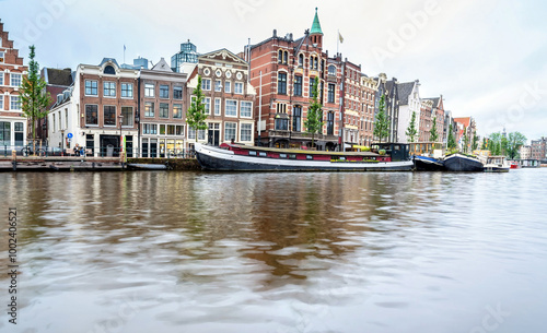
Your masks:
<instances>
[{"instance_id":1,"label":"brown-brick house with white side wall and dark storefront windows","mask_svg":"<svg viewBox=\"0 0 547 333\"><path fill-rule=\"evenodd\" d=\"M119 156L123 138L127 156L136 155L139 70L124 69L115 59L80 64L74 83L48 114L50 145L70 153L75 144L93 156Z\"/></svg>"}]
</instances>

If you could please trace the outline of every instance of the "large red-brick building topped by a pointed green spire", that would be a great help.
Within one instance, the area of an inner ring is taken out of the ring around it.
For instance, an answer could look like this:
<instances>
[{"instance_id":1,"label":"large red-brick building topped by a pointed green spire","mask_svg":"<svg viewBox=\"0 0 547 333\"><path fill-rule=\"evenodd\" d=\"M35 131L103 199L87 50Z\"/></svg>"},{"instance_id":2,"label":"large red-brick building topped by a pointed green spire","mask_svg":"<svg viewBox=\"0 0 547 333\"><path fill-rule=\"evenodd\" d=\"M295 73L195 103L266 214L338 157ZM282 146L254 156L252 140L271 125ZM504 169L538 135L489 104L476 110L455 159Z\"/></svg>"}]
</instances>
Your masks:
<instances>
[{"instance_id":1,"label":"large red-brick building topped by a pointed green spire","mask_svg":"<svg viewBox=\"0 0 547 333\"><path fill-rule=\"evenodd\" d=\"M251 83L256 87L255 110L260 123L257 142L267 146L311 145L304 120L310 106L311 87L317 80L323 103L324 126L315 135L318 148L335 150L340 138L341 57L328 58L323 51L323 32L317 12L311 31L293 39L274 35L246 49L251 59ZM327 66L330 72L327 72Z\"/></svg>"}]
</instances>

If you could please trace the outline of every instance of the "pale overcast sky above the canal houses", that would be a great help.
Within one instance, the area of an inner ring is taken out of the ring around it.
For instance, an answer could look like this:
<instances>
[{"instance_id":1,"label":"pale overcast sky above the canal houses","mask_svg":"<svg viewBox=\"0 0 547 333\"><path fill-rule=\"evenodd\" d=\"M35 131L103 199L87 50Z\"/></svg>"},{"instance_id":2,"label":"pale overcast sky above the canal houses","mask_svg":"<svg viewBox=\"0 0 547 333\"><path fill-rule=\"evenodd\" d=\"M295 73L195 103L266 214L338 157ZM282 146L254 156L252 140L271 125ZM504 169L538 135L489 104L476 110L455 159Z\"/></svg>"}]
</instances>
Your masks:
<instances>
[{"instance_id":1,"label":"pale overcast sky above the canal houses","mask_svg":"<svg viewBox=\"0 0 547 333\"><path fill-rule=\"evenodd\" d=\"M298 38L318 7L324 48L371 76L420 80L421 97L445 98L454 117L473 116L481 135L547 136L547 2L540 0L0 0L0 19L27 63L167 62L190 39L199 52L238 52L271 36Z\"/></svg>"}]
</instances>

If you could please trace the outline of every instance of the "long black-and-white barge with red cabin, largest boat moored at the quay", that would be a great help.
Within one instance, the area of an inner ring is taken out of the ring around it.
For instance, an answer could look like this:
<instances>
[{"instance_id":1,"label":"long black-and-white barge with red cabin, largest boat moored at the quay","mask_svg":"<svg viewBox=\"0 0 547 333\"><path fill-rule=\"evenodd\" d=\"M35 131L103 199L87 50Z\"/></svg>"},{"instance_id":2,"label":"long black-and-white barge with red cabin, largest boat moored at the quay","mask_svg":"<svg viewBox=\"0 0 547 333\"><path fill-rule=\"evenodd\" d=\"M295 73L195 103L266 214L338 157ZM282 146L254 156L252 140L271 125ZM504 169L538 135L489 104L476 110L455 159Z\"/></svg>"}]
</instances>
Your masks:
<instances>
[{"instance_id":1,"label":"long black-and-white barge with red cabin, largest boat moored at the quay","mask_svg":"<svg viewBox=\"0 0 547 333\"><path fill-rule=\"evenodd\" d=\"M382 144L383 147L388 147ZM196 143L196 157L205 170L216 171L410 171L408 146L391 144L385 154L324 152ZM404 155L406 154L406 157ZM400 158L403 156L403 158Z\"/></svg>"}]
</instances>

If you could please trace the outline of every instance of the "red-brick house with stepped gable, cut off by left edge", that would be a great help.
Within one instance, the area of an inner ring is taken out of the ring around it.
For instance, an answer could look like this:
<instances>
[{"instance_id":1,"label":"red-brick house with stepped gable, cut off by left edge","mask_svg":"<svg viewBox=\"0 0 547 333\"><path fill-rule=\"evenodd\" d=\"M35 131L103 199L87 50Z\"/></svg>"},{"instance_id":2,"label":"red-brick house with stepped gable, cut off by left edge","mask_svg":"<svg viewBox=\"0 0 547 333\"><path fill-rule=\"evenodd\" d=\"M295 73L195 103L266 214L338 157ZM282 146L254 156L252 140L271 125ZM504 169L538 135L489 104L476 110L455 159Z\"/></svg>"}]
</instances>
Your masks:
<instances>
[{"instance_id":1,"label":"red-brick house with stepped gable, cut off by left edge","mask_svg":"<svg viewBox=\"0 0 547 333\"><path fill-rule=\"evenodd\" d=\"M0 22L0 150L19 151L26 144L28 133L20 97L20 86L28 68L8 35Z\"/></svg>"}]
</instances>

